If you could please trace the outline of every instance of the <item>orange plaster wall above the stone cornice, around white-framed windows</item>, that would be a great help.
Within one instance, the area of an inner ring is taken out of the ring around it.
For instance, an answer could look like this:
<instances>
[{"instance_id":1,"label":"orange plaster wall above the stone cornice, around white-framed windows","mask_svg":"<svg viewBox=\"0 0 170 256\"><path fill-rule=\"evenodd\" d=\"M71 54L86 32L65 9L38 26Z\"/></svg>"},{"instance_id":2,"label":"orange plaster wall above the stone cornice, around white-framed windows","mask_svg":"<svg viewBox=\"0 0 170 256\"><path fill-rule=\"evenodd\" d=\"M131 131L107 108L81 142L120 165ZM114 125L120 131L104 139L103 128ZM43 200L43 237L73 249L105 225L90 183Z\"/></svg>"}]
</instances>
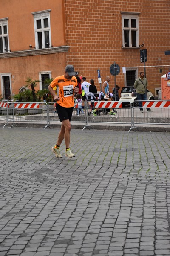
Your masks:
<instances>
[{"instance_id":1,"label":"orange plaster wall above the stone cornice, around white-framed windows","mask_svg":"<svg viewBox=\"0 0 170 256\"><path fill-rule=\"evenodd\" d=\"M65 45L64 10L62 0L0 0L0 19L8 17L11 51L35 47L32 12L51 9L51 40L53 47ZM59 36L58 36L59 35Z\"/></svg>"}]
</instances>

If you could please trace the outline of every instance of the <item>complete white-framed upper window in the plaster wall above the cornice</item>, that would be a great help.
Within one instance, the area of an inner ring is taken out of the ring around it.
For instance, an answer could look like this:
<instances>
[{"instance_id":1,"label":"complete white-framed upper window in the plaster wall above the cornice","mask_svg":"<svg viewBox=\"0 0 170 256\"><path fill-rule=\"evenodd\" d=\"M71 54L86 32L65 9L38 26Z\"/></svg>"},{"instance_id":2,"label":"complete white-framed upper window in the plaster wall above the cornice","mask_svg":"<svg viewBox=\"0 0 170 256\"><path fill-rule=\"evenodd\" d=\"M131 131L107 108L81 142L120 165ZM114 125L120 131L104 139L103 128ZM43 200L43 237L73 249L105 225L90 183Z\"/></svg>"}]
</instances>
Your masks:
<instances>
[{"instance_id":1,"label":"complete white-framed upper window in the plaster wall above the cornice","mask_svg":"<svg viewBox=\"0 0 170 256\"><path fill-rule=\"evenodd\" d=\"M35 49L51 46L50 10L33 12L35 30Z\"/></svg>"}]
</instances>

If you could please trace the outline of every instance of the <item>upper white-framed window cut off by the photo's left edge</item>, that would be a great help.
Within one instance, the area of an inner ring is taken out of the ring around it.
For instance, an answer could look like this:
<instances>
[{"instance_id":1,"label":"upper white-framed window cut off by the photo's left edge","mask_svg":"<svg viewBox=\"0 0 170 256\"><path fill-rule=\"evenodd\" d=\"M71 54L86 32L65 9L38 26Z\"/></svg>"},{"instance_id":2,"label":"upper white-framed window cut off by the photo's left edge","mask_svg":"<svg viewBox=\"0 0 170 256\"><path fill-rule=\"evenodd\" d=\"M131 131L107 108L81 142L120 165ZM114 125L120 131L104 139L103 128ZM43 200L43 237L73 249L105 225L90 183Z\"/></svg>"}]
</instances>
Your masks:
<instances>
[{"instance_id":1,"label":"upper white-framed window cut off by the photo's left edge","mask_svg":"<svg viewBox=\"0 0 170 256\"><path fill-rule=\"evenodd\" d=\"M0 53L9 52L8 18L0 19Z\"/></svg>"}]
</instances>

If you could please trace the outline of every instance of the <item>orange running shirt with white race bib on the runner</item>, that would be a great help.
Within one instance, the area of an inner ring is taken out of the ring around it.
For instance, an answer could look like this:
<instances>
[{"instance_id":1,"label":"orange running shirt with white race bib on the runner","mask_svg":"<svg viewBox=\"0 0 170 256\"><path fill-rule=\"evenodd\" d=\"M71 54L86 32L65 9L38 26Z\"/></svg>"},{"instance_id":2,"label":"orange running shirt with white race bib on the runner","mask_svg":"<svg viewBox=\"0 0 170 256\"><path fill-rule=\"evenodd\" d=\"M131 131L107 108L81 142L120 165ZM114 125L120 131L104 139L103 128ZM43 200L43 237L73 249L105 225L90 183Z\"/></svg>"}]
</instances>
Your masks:
<instances>
[{"instance_id":1,"label":"orange running shirt with white race bib on the runner","mask_svg":"<svg viewBox=\"0 0 170 256\"><path fill-rule=\"evenodd\" d=\"M74 88L77 86L77 78L72 77L71 81L62 76L57 76L50 84L52 88L57 87L57 95L60 100L57 103L64 108L74 107Z\"/></svg>"}]
</instances>

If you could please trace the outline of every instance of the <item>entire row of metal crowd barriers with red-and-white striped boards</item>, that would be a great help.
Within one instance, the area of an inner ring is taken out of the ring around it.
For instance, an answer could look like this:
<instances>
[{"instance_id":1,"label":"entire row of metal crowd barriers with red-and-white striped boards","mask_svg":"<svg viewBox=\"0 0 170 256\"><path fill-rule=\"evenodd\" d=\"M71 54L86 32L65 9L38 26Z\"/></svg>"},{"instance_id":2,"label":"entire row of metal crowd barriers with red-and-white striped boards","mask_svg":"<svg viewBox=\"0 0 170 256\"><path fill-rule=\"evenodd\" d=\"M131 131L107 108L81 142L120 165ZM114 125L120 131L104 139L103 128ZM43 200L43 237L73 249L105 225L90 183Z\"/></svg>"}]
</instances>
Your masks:
<instances>
[{"instance_id":1,"label":"entire row of metal crowd barriers with red-and-white striped boards","mask_svg":"<svg viewBox=\"0 0 170 256\"><path fill-rule=\"evenodd\" d=\"M41 122L45 128L54 128L54 123L60 123L56 113L55 102L0 102L0 120L6 120L3 126L16 126L18 122ZM77 114L78 104L74 106L71 123L84 125L91 129L93 124L103 125L130 125L130 130L138 130L139 125L170 125L170 101L154 100L143 101L143 113L139 107L133 104L128 108L122 108L122 102L84 102L83 109ZM148 112L150 108L153 112ZM97 109L97 115L93 116L92 110ZM110 109L116 115L109 116Z\"/></svg>"}]
</instances>

